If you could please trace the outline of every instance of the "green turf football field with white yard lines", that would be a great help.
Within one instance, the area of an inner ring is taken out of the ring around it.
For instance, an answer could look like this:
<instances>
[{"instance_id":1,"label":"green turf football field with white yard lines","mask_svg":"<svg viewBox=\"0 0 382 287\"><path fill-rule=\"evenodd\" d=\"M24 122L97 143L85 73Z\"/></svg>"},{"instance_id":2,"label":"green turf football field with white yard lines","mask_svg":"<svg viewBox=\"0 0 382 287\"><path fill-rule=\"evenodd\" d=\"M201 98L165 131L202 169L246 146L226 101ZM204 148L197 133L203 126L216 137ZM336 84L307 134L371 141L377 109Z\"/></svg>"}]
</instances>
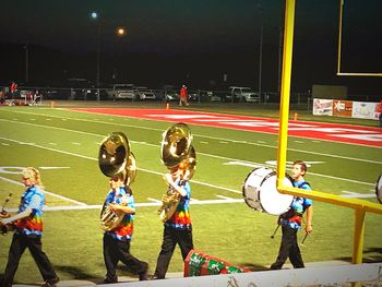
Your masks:
<instances>
[{"instance_id":1,"label":"green turf football field with white yard lines","mask_svg":"<svg viewBox=\"0 0 382 287\"><path fill-rule=\"evenodd\" d=\"M277 117L274 110L220 108L230 113ZM359 120L355 122L362 123ZM135 202L147 203L148 198L159 200L166 190L160 177L166 168L160 163L159 152L162 133L171 123L65 109L3 107L0 109L0 166L40 167L45 188L53 193L47 195L48 206L75 205L55 194L88 205L103 203L108 179L99 171L97 156L100 141L112 131L123 131L129 136L136 157L139 170L132 184ZM366 125L371 124L367 122ZM191 182L192 198L196 200L218 200L220 195L241 199L241 186L253 166L276 160L277 135L190 127L198 153L198 168ZM381 148L293 136L288 139L288 148L289 162L297 158L322 162L309 168L307 180L314 190L323 192L371 194L382 170ZM246 165L232 165L235 162ZM8 207L16 207L23 192L20 175L0 172L0 204L9 192L13 192ZM377 202L374 198L366 200ZM162 243L163 225L156 214L157 208L138 208L132 242L132 253L147 261L151 272L154 272ZM45 213L43 244L62 279L82 278L96 283L103 279L105 266L98 215L98 208ZM253 270L264 268L277 255L280 232L275 239L270 238L276 226L276 216L250 210L244 203L192 205L191 216L196 250ZM350 208L315 201L314 231L302 248L305 261L349 261L354 218ZM381 230L381 216L367 214L365 261L382 260ZM301 239L303 232L299 236ZM7 263L11 238L11 235L0 238L0 274ZM128 274L121 268L119 275ZM182 271L179 251L174 255L169 271ZM41 278L32 256L25 254L15 282L39 280Z\"/></svg>"}]
</instances>

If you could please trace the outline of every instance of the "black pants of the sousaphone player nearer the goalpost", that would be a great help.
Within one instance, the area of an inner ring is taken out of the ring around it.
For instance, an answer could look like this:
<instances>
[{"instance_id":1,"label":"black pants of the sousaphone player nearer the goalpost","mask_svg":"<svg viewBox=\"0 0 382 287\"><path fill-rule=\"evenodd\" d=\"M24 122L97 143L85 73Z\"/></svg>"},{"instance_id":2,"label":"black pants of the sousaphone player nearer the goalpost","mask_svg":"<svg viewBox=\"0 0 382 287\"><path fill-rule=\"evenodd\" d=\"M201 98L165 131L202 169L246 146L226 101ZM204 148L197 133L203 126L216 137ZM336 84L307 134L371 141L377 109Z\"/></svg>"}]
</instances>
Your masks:
<instances>
[{"instance_id":1,"label":"black pants of the sousaphone player nearer the goalpost","mask_svg":"<svg viewBox=\"0 0 382 287\"><path fill-rule=\"evenodd\" d=\"M156 263L154 276L158 278L165 278L177 243L180 247L181 255L184 261L189 252L193 249L192 231L187 229L175 229L165 226L162 250Z\"/></svg>"}]
</instances>

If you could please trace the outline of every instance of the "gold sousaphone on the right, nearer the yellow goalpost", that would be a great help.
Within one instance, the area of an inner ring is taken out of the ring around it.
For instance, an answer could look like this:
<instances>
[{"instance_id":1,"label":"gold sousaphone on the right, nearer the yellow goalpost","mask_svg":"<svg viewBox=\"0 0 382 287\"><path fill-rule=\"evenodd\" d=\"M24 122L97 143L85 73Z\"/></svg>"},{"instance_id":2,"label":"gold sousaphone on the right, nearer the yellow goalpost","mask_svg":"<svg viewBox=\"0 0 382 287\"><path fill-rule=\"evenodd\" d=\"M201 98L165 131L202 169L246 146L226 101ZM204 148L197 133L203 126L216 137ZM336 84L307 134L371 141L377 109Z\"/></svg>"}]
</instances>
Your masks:
<instances>
[{"instance_id":1,"label":"gold sousaphone on the right, nearer the yellow goalpost","mask_svg":"<svg viewBox=\"0 0 382 287\"><path fill-rule=\"evenodd\" d=\"M196 168L196 153L192 146L190 128L182 122L170 127L163 134L160 148L162 163L170 170L182 164L187 168L187 179L190 180ZM162 222L171 218L180 201L180 194L168 189L163 195L158 215Z\"/></svg>"}]
</instances>

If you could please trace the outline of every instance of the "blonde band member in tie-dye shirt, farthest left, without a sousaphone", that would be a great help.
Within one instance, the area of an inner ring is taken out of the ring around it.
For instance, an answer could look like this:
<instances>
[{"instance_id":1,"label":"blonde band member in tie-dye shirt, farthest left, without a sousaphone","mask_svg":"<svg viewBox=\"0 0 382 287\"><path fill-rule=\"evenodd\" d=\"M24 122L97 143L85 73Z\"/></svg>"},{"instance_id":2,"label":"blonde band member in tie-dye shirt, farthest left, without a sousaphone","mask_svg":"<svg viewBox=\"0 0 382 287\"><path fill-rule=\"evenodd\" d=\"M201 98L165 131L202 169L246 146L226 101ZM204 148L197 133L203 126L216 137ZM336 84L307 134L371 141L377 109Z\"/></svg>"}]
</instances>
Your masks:
<instances>
[{"instance_id":1,"label":"blonde band member in tie-dye shirt, farthest left, without a sousaphone","mask_svg":"<svg viewBox=\"0 0 382 287\"><path fill-rule=\"evenodd\" d=\"M19 261L26 248L31 251L45 280L43 287L56 286L59 278L41 244L45 195L40 175L33 167L25 168L22 175L26 190L21 196L19 213L1 220L2 225L13 224L15 228L1 286L12 286Z\"/></svg>"}]
</instances>

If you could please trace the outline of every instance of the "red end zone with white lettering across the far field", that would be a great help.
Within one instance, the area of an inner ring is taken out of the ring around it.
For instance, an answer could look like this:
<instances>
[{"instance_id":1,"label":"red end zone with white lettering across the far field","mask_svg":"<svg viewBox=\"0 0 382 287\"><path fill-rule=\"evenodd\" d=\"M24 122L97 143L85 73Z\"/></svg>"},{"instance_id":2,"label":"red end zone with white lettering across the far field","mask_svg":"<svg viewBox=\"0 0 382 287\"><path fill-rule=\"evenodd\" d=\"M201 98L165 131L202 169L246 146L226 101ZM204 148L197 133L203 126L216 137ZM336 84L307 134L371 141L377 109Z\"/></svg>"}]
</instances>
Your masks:
<instances>
[{"instance_id":1,"label":"red end zone with white lettering across the far field","mask_svg":"<svg viewBox=\"0 0 382 287\"><path fill-rule=\"evenodd\" d=\"M278 133L278 120L268 118L171 109L77 108L73 110L147 120L186 122L253 132ZM315 140L382 147L381 128L290 120L288 134Z\"/></svg>"}]
</instances>

